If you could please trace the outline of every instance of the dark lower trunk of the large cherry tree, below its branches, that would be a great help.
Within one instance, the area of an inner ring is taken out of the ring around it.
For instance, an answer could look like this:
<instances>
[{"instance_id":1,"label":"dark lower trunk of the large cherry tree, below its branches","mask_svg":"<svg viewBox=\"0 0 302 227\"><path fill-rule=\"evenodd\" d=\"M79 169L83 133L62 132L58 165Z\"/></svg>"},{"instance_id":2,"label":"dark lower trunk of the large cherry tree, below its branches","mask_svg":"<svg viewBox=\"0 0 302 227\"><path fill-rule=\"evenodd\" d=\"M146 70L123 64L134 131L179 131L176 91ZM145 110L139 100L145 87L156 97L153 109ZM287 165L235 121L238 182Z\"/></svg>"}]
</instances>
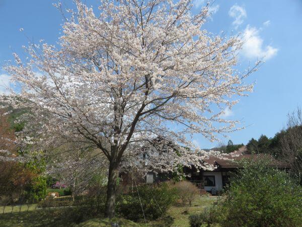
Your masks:
<instances>
[{"instance_id":1,"label":"dark lower trunk of the large cherry tree, below its branches","mask_svg":"<svg viewBox=\"0 0 302 227\"><path fill-rule=\"evenodd\" d=\"M115 197L117 189L118 178L118 163L113 162L109 165L109 176L107 184L107 201L106 201L106 215L109 218L115 216Z\"/></svg>"}]
</instances>

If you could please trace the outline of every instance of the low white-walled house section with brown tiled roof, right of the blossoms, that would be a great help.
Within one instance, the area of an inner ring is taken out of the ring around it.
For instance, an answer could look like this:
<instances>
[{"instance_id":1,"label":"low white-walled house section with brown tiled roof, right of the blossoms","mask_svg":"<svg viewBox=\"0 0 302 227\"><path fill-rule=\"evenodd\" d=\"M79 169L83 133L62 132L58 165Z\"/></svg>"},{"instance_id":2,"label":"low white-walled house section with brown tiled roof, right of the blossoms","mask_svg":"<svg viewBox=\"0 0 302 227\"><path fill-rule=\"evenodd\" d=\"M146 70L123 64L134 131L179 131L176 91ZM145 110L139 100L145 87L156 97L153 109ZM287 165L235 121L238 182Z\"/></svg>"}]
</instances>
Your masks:
<instances>
[{"instance_id":1,"label":"low white-walled house section with brown tiled roof, right of the blossoms","mask_svg":"<svg viewBox=\"0 0 302 227\"><path fill-rule=\"evenodd\" d=\"M229 179L237 174L238 168L241 166L238 161L243 159L269 159L269 165L280 169L289 169L290 166L286 163L274 159L272 156L265 154L246 154L246 146L241 147L239 150L233 152L227 157L229 160L219 159L217 157L209 157L203 160L208 164L216 166L213 171L197 171L194 166L191 168L184 167L184 172L187 175L187 180L196 184L199 188L204 189L207 192L221 191L223 187L229 183ZM236 156L235 156L236 155ZM232 160L230 160L232 159Z\"/></svg>"}]
</instances>

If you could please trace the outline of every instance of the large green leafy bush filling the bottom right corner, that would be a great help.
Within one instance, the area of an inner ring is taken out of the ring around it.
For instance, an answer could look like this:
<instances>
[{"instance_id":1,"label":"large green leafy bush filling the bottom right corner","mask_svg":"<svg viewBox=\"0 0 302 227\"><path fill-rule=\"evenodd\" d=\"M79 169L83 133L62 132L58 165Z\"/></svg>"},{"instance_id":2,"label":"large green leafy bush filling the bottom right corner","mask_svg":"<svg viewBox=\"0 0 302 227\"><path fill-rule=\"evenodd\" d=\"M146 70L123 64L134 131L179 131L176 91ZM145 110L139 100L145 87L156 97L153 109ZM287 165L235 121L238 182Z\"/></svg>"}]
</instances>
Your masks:
<instances>
[{"instance_id":1,"label":"large green leafy bush filling the bottom right corner","mask_svg":"<svg viewBox=\"0 0 302 227\"><path fill-rule=\"evenodd\" d=\"M228 226L300 226L302 190L265 162L245 162L218 203L219 222Z\"/></svg>"}]
</instances>

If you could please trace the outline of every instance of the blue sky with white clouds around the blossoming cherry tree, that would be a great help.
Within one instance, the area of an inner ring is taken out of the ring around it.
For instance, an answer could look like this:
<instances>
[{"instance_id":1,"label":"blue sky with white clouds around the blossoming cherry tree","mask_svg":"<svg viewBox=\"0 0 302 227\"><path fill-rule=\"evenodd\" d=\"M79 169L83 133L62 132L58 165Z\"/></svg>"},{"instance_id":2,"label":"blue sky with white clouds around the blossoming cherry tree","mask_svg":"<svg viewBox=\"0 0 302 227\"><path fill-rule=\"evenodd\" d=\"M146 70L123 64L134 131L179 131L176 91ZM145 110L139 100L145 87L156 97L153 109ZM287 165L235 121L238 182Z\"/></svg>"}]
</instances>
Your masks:
<instances>
[{"instance_id":1,"label":"blue sky with white clouds around the blossoming cherry tree","mask_svg":"<svg viewBox=\"0 0 302 227\"><path fill-rule=\"evenodd\" d=\"M52 0L0 0L0 67L12 60L12 53L22 53L22 45L31 40L44 39L55 44L60 36L60 13L52 6ZM71 5L71 0L65 0ZM206 1L196 0L194 10ZM97 0L86 0L96 5ZM242 33L246 43L240 54L239 69L249 63L264 59L265 64L248 78L256 82L254 92L226 111L225 118L238 119L247 126L245 130L230 134L234 143L246 144L261 134L273 137L286 123L286 114L302 106L302 1L233 1L216 0L211 8L212 16L205 29L213 34ZM24 32L19 31L20 28ZM27 36L27 37L26 37ZM9 76L0 71L0 85ZM0 93L4 93L0 86ZM193 137L202 148L211 143L200 135ZM223 139L226 143L228 139Z\"/></svg>"}]
</instances>

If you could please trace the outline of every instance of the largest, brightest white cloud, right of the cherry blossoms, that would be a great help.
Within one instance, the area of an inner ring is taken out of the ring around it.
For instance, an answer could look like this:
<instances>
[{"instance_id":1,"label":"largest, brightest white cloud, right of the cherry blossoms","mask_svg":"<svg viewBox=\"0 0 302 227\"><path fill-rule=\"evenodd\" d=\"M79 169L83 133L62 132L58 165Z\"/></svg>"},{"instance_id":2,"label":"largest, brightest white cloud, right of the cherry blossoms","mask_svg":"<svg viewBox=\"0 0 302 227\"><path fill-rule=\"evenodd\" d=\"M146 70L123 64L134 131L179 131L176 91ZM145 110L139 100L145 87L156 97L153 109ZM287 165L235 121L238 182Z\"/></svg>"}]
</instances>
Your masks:
<instances>
[{"instance_id":1,"label":"largest, brightest white cloud, right of the cherry blossoms","mask_svg":"<svg viewBox=\"0 0 302 227\"><path fill-rule=\"evenodd\" d=\"M242 54L247 58L260 58L265 61L271 59L278 52L278 49L271 45L263 45L263 39L259 35L259 29L255 27L248 25L241 38L244 40Z\"/></svg>"}]
</instances>

